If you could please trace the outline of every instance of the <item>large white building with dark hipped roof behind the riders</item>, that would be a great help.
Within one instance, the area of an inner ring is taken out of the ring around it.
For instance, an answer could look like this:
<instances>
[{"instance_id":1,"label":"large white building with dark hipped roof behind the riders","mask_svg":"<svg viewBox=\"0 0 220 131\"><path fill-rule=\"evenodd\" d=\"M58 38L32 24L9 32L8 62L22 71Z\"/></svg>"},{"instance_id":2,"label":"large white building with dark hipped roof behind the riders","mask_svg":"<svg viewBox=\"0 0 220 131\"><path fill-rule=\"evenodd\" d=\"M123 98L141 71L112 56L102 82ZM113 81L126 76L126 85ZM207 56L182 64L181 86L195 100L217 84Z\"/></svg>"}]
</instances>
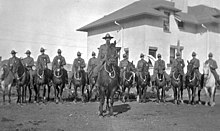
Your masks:
<instances>
[{"instance_id":1,"label":"large white building with dark hipped roof behind the riders","mask_svg":"<svg viewBox=\"0 0 220 131\"><path fill-rule=\"evenodd\" d=\"M220 67L220 10L205 5L189 7L186 0L140 0L78 31L88 32L88 58L92 51L98 52L105 42L102 37L110 33L122 50L129 49L129 59L135 63L140 53L154 57L160 53L169 67L179 41L185 64L195 51L202 67L212 52Z\"/></svg>"}]
</instances>

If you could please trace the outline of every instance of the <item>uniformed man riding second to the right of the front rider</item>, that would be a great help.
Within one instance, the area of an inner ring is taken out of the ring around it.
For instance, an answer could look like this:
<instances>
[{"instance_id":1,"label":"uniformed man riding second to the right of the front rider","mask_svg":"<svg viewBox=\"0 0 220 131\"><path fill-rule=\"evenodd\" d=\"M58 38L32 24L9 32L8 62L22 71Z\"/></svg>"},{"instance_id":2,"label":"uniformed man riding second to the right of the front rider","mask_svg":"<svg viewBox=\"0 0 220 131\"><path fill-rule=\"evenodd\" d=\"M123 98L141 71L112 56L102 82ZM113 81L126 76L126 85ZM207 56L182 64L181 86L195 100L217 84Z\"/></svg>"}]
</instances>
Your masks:
<instances>
[{"instance_id":1,"label":"uniformed man riding second to the right of the front rider","mask_svg":"<svg viewBox=\"0 0 220 131\"><path fill-rule=\"evenodd\" d=\"M144 64L146 64L146 66L147 66L147 72L149 73L149 64L148 64L148 62L147 61L145 61L144 60L144 54L140 54L140 60L138 61L138 63L137 63L137 72L136 72L136 75L139 77L140 76L140 74L141 74L141 72L142 72L142 70L143 70L143 66L144 66Z\"/></svg>"}]
</instances>

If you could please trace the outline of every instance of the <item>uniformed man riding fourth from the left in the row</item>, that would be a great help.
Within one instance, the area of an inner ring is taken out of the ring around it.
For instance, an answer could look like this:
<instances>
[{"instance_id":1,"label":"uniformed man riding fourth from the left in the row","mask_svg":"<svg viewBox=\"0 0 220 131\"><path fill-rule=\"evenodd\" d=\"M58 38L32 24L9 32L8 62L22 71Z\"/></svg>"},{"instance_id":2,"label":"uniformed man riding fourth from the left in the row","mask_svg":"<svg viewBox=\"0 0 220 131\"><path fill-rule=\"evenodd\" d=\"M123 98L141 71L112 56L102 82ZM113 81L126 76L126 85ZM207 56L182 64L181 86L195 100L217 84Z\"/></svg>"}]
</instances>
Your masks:
<instances>
[{"instance_id":1,"label":"uniformed man riding fourth from the left in the row","mask_svg":"<svg viewBox=\"0 0 220 131\"><path fill-rule=\"evenodd\" d=\"M60 49L57 50L57 56L54 57L53 62L52 62L52 70L56 70L57 68L61 68L63 70L65 75L65 83L68 84L68 76L67 76L67 71L64 69L64 65L66 65L66 60L65 58L61 55L62 51Z\"/></svg>"}]
</instances>

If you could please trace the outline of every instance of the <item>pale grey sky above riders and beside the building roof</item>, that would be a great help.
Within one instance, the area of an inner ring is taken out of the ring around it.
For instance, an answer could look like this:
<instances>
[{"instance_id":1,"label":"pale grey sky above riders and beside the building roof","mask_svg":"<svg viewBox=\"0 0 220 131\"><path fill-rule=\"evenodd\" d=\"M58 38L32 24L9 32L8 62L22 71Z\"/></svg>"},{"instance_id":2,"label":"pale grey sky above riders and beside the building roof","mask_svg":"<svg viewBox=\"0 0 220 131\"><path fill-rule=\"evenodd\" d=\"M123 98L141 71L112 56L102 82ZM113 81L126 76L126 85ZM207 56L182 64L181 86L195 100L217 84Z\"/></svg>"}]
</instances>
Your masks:
<instances>
[{"instance_id":1,"label":"pale grey sky above riders and beside the building roof","mask_svg":"<svg viewBox=\"0 0 220 131\"><path fill-rule=\"evenodd\" d=\"M36 60L46 48L51 61L57 49L67 63L77 51L86 55L87 33L76 31L104 15L137 0L0 0L0 56L11 57L11 50L24 58L26 50ZM220 0L188 0L188 5L206 4L220 9Z\"/></svg>"}]
</instances>

